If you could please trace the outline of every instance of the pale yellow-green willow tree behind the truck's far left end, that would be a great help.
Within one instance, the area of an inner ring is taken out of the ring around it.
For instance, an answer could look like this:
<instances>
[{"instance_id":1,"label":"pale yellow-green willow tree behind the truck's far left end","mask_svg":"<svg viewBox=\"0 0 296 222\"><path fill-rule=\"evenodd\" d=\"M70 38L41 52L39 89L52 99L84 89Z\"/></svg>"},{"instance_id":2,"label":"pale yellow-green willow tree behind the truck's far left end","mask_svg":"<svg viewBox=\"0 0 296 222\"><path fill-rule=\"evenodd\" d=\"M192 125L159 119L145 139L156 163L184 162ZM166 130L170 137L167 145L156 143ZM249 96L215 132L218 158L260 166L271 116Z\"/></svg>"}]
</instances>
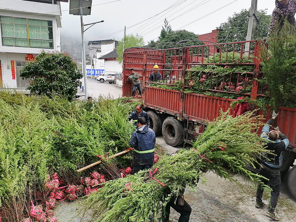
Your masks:
<instances>
[{"instance_id":1,"label":"pale yellow-green willow tree behind the truck's far left end","mask_svg":"<svg viewBox=\"0 0 296 222\"><path fill-rule=\"evenodd\" d=\"M117 54L118 57L116 60L120 63L122 63L122 58L123 58L123 41L124 39L122 38L121 41L119 41L119 45L116 46ZM133 35L127 35L124 43L124 49L130 48L130 47L136 47L136 46L144 46L144 39L142 36L139 36L138 34Z\"/></svg>"}]
</instances>

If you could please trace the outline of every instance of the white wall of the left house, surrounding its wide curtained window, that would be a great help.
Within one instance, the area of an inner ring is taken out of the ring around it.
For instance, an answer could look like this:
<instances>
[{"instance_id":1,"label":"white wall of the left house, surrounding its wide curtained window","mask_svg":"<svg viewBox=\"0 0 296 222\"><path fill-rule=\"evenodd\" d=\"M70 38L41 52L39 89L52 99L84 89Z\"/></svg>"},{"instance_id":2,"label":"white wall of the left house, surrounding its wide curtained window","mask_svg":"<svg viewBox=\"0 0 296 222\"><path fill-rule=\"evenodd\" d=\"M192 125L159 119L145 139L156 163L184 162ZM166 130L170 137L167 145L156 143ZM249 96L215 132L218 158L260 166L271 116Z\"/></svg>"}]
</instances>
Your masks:
<instances>
[{"instance_id":1,"label":"white wall of the left house, surrounding its wide curtained window","mask_svg":"<svg viewBox=\"0 0 296 222\"><path fill-rule=\"evenodd\" d=\"M3 46L1 38L2 33L0 28L0 60L2 69L2 73L0 73L0 75L2 75L3 86L8 88L17 88L17 83L20 82L20 80L17 80L16 61L25 62L25 57L27 54L32 54L34 57L36 57L42 51L60 51L60 5L22 0L0 1L0 15L2 16L52 20L53 49ZM50 14L33 16L34 13ZM15 63L15 79L12 78L11 61L14 61Z\"/></svg>"}]
</instances>

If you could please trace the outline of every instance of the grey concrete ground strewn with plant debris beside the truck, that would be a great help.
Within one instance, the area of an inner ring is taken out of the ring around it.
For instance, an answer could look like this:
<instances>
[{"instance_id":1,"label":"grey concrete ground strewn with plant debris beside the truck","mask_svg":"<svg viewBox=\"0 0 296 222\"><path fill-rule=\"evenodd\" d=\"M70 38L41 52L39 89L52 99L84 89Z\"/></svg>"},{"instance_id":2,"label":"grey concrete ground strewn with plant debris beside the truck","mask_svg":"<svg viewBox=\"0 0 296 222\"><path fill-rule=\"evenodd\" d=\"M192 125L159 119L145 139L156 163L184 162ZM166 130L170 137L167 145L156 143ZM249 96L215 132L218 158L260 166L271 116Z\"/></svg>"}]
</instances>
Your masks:
<instances>
[{"instance_id":1,"label":"grey concrete ground strewn with plant debris beside the truck","mask_svg":"<svg viewBox=\"0 0 296 222\"><path fill-rule=\"evenodd\" d=\"M163 146L168 152L175 152L178 148L168 146L161 137L157 138L157 143ZM204 174L206 182L200 181L197 189L187 189L185 200L192 207L190 222L268 222L271 221L264 214L265 209L255 208L256 188L251 181L244 180L240 175L233 175L242 187L236 183L216 176L212 172ZM264 195L264 202L268 204ZM93 222L91 211L86 214L75 216L81 208L79 202L64 204L62 202L55 208L55 216L60 222ZM277 215L283 222L296 221L296 201L292 198L289 190L282 182L281 194L276 207ZM179 214L171 209L170 217L174 222L178 221ZM294 218L294 219L293 219Z\"/></svg>"}]
</instances>

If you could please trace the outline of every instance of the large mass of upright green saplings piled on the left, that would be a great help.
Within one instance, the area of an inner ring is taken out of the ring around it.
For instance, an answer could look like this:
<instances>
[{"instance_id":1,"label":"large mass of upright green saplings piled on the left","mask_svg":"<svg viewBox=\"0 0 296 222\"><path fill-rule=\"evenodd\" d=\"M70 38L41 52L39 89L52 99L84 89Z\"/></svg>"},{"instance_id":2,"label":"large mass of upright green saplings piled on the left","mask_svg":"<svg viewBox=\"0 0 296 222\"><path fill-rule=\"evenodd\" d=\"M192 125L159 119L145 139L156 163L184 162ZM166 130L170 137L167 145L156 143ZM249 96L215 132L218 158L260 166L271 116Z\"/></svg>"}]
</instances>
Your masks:
<instances>
[{"instance_id":1,"label":"large mass of upright green saplings piled on the left","mask_svg":"<svg viewBox=\"0 0 296 222\"><path fill-rule=\"evenodd\" d=\"M21 215L43 194L48 174L72 183L81 176L76 170L98 161L96 155L129 148L134 126L127 118L138 103L127 100L100 97L86 104L0 91L0 211L10 206ZM131 154L118 158L118 164L130 163Z\"/></svg>"}]
</instances>

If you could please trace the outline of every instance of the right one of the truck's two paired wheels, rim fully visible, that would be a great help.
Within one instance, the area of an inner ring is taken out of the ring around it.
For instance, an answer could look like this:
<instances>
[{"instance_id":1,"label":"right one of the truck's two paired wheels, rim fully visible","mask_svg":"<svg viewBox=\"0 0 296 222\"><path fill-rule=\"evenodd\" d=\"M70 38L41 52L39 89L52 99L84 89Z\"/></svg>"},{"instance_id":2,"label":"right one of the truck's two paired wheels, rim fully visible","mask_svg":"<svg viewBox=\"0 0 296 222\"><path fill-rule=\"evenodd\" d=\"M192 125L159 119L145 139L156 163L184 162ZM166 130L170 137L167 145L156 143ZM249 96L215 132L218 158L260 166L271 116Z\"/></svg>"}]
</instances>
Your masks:
<instances>
[{"instance_id":1,"label":"right one of the truck's two paired wheels, rim fully visible","mask_svg":"<svg viewBox=\"0 0 296 222\"><path fill-rule=\"evenodd\" d=\"M184 142L184 127L181 122L174 117L168 117L163 121L163 139L172 147Z\"/></svg>"}]
</instances>

